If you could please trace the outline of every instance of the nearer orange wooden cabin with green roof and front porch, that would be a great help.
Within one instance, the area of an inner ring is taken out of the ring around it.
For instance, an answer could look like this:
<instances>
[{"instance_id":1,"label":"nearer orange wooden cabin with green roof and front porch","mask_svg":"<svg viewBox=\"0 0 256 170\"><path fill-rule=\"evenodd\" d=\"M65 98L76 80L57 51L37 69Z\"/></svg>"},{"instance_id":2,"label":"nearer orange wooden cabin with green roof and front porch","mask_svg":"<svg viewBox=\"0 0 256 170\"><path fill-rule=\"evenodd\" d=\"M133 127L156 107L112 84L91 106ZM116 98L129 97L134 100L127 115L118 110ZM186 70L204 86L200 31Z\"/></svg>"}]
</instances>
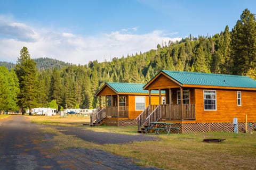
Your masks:
<instances>
[{"instance_id":1,"label":"nearer orange wooden cabin with green roof and front porch","mask_svg":"<svg viewBox=\"0 0 256 170\"><path fill-rule=\"evenodd\" d=\"M166 103L137 117L139 132L159 121L175 123L181 133L232 132L234 118L238 130L251 131L256 125L256 81L249 77L162 70L143 89L149 94L164 90Z\"/></svg>"}]
</instances>

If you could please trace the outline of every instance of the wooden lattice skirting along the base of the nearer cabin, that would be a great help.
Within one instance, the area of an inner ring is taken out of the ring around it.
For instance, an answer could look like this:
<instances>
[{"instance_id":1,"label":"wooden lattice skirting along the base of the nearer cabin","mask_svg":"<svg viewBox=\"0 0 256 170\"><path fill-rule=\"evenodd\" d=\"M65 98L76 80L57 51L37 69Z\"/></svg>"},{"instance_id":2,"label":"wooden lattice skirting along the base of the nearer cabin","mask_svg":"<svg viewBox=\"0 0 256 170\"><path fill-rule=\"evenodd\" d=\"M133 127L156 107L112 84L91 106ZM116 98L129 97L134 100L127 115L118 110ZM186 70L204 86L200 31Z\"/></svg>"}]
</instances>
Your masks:
<instances>
[{"instance_id":1,"label":"wooden lattice skirting along the base of the nearer cabin","mask_svg":"<svg viewBox=\"0 0 256 170\"><path fill-rule=\"evenodd\" d=\"M244 122L238 123L238 131L245 130ZM233 122L229 123L186 123L175 124L177 128L180 128L180 133L197 133L197 132L234 132ZM253 131L253 126L256 126L256 122L247 123L247 131ZM175 131L174 131L175 133Z\"/></svg>"}]
</instances>

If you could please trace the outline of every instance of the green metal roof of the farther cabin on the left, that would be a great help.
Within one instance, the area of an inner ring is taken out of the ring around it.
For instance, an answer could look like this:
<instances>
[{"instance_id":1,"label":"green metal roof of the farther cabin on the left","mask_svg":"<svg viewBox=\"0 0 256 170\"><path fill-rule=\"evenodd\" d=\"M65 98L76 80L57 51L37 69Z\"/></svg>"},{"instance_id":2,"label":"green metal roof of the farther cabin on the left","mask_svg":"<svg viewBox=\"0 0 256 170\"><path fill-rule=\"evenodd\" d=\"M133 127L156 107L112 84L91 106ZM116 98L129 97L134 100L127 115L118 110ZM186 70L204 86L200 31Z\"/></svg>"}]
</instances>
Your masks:
<instances>
[{"instance_id":1,"label":"green metal roof of the farther cabin on the left","mask_svg":"<svg viewBox=\"0 0 256 170\"><path fill-rule=\"evenodd\" d=\"M132 94L148 94L148 90L143 90L145 84L142 83L117 83L117 82L107 82L117 93L132 93ZM152 90L151 94L159 94L159 91ZM162 94L164 92L162 91Z\"/></svg>"}]
</instances>

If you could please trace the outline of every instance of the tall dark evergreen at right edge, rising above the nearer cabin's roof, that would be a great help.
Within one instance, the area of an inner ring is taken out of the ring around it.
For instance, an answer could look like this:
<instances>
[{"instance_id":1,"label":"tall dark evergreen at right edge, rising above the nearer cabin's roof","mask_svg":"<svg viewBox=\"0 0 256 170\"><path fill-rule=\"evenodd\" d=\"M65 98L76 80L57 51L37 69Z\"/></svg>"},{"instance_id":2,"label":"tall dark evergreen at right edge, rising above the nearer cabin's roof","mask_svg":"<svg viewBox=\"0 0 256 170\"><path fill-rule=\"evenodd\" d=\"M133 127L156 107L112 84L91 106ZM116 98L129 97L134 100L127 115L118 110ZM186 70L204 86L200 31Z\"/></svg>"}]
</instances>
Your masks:
<instances>
[{"instance_id":1,"label":"tall dark evergreen at right edge, rising above the nearer cabin's roof","mask_svg":"<svg viewBox=\"0 0 256 170\"><path fill-rule=\"evenodd\" d=\"M234 74L245 75L256 67L255 15L245 9L232 30L231 46L234 56Z\"/></svg>"}]
</instances>

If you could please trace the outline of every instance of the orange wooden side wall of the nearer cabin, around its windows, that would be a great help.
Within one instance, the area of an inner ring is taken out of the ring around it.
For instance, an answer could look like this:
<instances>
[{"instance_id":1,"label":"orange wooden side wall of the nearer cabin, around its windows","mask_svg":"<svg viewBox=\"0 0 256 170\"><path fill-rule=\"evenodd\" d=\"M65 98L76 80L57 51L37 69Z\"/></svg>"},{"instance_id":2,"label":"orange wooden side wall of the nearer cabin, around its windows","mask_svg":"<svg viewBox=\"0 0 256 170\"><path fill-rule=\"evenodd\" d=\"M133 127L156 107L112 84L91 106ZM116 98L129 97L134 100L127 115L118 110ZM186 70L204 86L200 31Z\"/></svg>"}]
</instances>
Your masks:
<instances>
[{"instance_id":1,"label":"orange wooden side wall of the nearer cabin, around its windows","mask_svg":"<svg viewBox=\"0 0 256 170\"><path fill-rule=\"evenodd\" d=\"M237 106L238 90L216 90L217 111L204 111L204 90L195 89L196 123L233 122L234 117L245 122L246 114L247 122L256 121L256 91L241 90L242 106Z\"/></svg>"}]
</instances>

